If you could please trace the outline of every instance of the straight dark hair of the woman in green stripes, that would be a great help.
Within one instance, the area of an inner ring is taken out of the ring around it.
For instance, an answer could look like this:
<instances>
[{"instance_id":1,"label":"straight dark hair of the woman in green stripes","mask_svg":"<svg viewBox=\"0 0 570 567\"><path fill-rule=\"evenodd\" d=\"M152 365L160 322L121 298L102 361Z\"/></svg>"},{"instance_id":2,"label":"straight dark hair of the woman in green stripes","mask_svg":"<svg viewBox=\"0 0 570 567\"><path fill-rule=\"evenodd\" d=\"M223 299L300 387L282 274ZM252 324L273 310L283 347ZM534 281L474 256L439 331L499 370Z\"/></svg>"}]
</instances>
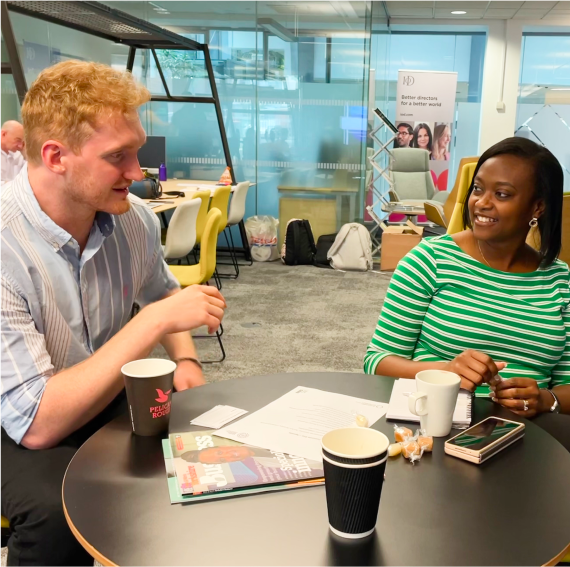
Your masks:
<instances>
[{"instance_id":1,"label":"straight dark hair of the woman in green stripes","mask_svg":"<svg viewBox=\"0 0 570 567\"><path fill-rule=\"evenodd\" d=\"M529 161L534 166L535 199L544 201L544 213L538 219L540 255L542 265L550 266L562 246L562 194L564 174L558 160L550 150L526 138L506 138L491 146L477 162L463 207L463 226L472 228L467 203L479 168L490 158L511 155Z\"/></svg>"}]
</instances>

